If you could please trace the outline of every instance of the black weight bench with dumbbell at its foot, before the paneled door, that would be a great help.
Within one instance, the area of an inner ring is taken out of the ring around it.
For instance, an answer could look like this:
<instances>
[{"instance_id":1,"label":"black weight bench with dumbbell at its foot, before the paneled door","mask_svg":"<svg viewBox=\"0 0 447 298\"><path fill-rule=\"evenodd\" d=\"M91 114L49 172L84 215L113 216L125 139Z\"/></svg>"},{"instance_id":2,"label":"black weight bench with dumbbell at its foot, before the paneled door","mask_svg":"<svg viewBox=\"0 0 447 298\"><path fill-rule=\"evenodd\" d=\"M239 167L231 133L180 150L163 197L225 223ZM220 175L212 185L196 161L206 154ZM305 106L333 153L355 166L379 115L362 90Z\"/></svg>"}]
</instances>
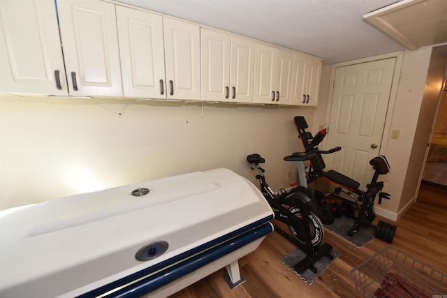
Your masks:
<instances>
[{"instance_id":1,"label":"black weight bench with dumbbell at its foot, before the paneled door","mask_svg":"<svg viewBox=\"0 0 447 298\"><path fill-rule=\"evenodd\" d=\"M359 188L360 183L358 183L358 181L355 181L342 173L336 172L335 170L323 172L325 163L321 157L321 151L318 150L318 144L323 141L325 135L327 134L327 128L323 128L321 131L318 131L314 137L312 137L311 133L305 131L305 128L308 128L308 126L304 117L297 116L293 120L296 128L298 129L298 134L306 153L312 156L312 158L309 158L311 166L306 172L307 184L315 181L318 177L323 177L324 179L338 185L338 187L335 188L335 195L344 192L353 198L354 202L358 206L357 216L354 215L353 208L351 209L349 207L349 203L344 204L346 209L349 209L347 211L351 214L355 221L352 228L347 231L349 237L353 237L353 235L360 230L361 226L365 228L372 226L372 221L374 221L374 218L376 217L374 212L374 200L376 196L379 196L379 204L381 204L383 199L390 200L390 194L381 191L383 188L383 181L377 181L379 175L390 172L390 165L388 164L386 157L376 156L369 161L369 165L372 165L374 170L374 175L371 182L366 186L367 191L361 191ZM339 151L340 149L340 147L337 147L332 149L332 151L335 152ZM379 223L375 226L374 237L391 243L393 241L395 231L395 225L391 225L384 221L379 221Z\"/></svg>"}]
</instances>

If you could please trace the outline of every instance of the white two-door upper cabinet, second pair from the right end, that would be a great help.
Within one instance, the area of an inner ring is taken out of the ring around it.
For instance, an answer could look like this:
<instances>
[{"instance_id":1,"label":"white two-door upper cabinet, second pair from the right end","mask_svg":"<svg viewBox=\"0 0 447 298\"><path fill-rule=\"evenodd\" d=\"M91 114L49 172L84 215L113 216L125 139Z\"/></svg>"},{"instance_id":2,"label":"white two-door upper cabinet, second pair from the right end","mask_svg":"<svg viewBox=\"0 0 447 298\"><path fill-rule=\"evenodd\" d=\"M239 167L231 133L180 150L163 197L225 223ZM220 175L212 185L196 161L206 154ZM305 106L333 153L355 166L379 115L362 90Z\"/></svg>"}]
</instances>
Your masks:
<instances>
[{"instance_id":1,"label":"white two-door upper cabinet, second pair from the right end","mask_svg":"<svg viewBox=\"0 0 447 298\"><path fill-rule=\"evenodd\" d=\"M257 44L254 102L290 104L292 74L293 51Z\"/></svg>"}]
</instances>

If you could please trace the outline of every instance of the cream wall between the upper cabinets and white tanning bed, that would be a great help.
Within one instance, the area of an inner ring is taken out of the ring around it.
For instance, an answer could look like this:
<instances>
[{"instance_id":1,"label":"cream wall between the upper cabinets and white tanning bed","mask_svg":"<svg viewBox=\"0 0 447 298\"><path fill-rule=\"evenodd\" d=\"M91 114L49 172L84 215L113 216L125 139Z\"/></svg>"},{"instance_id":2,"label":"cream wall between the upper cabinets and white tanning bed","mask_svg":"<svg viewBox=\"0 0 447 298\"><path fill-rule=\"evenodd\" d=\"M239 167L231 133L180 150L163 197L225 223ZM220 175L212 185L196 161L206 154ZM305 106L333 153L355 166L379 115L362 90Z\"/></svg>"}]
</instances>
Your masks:
<instances>
[{"instance_id":1,"label":"cream wall between the upper cabinets and white tanning bed","mask_svg":"<svg viewBox=\"0 0 447 298\"><path fill-rule=\"evenodd\" d=\"M0 98L0 209L216 167L257 185L254 152L270 186L285 188L296 167L283 157L301 149L293 117L312 123L315 110L104 101Z\"/></svg>"}]
</instances>

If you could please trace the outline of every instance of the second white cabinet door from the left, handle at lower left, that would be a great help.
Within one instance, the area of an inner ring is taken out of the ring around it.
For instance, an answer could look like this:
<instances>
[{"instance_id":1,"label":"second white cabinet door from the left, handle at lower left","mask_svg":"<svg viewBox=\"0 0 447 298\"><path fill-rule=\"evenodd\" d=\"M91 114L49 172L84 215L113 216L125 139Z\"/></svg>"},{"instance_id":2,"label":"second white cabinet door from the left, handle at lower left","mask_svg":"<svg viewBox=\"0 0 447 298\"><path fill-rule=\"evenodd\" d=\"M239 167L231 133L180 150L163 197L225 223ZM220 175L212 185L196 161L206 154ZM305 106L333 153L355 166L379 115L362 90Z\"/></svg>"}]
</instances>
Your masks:
<instances>
[{"instance_id":1,"label":"second white cabinet door from the left, handle at lower left","mask_svg":"<svg viewBox=\"0 0 447 298\"><path fill-rule=\"evenodd\" d=\"M115 4L58 0L68 75L76 96L122 96Z\"/></svg>"}]
</instances>

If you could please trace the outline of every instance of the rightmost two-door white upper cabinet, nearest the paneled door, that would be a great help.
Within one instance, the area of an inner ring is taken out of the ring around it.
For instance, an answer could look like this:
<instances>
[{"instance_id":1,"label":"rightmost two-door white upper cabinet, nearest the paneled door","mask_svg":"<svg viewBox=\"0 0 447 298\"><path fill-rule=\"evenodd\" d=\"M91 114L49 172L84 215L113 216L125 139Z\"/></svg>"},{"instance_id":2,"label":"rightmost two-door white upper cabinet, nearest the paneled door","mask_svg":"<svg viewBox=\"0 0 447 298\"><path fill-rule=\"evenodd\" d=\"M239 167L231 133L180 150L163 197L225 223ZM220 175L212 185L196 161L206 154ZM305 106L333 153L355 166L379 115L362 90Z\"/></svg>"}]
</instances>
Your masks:
<instances>
[{"instance_id":1,"label":"rightmost two-door white upper cabinet, nearest the paneled door","mask_svg":"<svg viewBox=\"0 0 447 298\"><path fill-rule=\"evenodd\" d=\"M321 59L295 54L291 105L318 104L321 79Z\"/></svg>"}]
</instances>

